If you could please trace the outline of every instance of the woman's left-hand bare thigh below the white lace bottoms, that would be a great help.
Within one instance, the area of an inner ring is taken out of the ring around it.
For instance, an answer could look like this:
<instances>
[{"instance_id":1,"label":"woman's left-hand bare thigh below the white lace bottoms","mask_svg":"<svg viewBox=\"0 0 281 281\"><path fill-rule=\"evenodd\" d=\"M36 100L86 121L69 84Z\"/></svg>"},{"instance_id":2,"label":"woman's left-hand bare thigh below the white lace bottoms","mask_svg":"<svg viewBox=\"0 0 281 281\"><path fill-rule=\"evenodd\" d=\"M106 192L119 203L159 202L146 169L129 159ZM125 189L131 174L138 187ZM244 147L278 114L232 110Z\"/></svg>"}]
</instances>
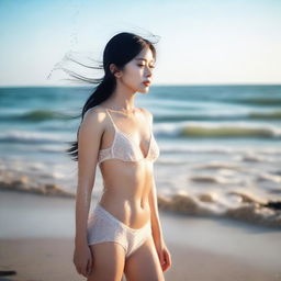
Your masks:
<instances>
[{"instance_id":1,"label":"woman's left-hand bare thigh below the white lace bottoms","mask_svg":"<svg viewBox=\"0 0 281 281\"><path fill-rule=\"evenodd\" d=\"M125 250L114 241L103 241L89 245L92 252L92 271L88 281L121 281L124 263Z\"/></svg>"}]
</instances>

